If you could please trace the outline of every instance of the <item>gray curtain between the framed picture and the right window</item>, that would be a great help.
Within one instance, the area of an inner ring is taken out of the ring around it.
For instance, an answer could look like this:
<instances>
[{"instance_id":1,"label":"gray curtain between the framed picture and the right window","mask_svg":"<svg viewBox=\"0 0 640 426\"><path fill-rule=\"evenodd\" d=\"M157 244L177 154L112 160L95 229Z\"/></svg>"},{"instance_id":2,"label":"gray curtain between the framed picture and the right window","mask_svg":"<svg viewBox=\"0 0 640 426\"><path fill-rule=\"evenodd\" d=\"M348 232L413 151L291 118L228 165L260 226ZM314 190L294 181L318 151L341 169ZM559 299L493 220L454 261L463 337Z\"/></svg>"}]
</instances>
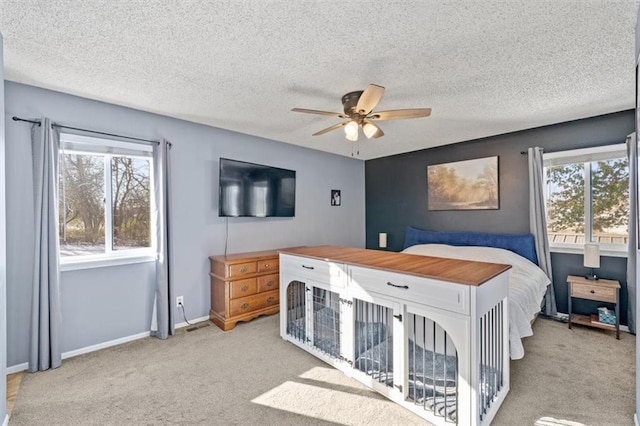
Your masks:
<instances>
[{"instance_id":1,"label":"gray curtain between the framed picture and the right window","mask_svg":"<svg viewBox=\"0 0 640 426\"><path fill-rule=\"evenodd\" d=\"M544 204L544 164L542 148L529 148L529 229L536 240L536 255L540 268L547 274L551 284L544 296L545 315L555 316L556 293L551 270L551 251L547 236L547 218Z\"/></svg>"}]
</instances>

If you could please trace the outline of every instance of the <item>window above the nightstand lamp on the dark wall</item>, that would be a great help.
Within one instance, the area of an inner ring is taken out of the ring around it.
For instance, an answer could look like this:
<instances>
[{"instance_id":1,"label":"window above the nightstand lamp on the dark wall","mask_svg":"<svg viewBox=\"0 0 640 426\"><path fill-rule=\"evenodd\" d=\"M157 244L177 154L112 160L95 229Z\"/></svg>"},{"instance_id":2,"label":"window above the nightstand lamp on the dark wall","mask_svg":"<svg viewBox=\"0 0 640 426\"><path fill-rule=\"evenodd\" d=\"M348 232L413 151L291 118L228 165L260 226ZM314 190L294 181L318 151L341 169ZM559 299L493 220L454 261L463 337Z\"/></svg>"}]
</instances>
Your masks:
<instances>
[{"instance_id":1,"label":"window above the nightstand lamp on the dark wall","mask_svg":"<svg viewBox=\"0 0 640 426\"><path fill-rule=\"evenodd\" d=\"M595 242L605 254L626 253L629 163L625 145L545 154L544 165L552 251L581 252L586 242Z\"/></svg>"}]
</instances>

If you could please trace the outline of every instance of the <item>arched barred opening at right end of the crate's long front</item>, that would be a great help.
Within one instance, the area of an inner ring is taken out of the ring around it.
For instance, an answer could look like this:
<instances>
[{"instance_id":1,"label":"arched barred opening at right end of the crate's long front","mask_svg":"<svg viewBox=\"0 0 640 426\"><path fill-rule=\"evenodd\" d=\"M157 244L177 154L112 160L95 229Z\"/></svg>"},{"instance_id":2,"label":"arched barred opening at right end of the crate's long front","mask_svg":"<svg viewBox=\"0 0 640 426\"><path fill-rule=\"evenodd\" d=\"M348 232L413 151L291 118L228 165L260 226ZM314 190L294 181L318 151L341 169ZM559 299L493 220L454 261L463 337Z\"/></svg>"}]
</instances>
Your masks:
<instances>
[{"instance_id":1,"label":"arched barred opening at right end of the crate's long front","mask_svg":"<svg viewBox=\"0 0 640 426\"><path fill-rule=\"evenodd\" d=\"M434 416L457 422L458 353L451 337L435 321L407 315L407 399Z\"/></svg>"}]
</instances>

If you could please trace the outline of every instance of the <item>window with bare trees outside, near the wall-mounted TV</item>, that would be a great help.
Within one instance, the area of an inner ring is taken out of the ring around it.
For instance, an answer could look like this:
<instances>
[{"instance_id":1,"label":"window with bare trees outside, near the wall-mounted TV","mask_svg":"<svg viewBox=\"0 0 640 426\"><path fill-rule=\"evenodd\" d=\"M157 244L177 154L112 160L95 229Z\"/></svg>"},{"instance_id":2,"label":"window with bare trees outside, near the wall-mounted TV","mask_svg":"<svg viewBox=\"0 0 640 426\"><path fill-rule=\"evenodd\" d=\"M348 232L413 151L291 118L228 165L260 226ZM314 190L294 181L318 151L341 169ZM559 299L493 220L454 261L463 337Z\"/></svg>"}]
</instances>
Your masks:
<instances>
[{"instance_id":1,"label":"window with bare trees outside, near the wall-mounted TV","mask_svg":"<svg viewBox=\"0 0 640 426\"><path fill-rule=\"evenodd\" d=\"M151 146L61 134L61 262L152 254Z\"/></svg>"}]
</instances>

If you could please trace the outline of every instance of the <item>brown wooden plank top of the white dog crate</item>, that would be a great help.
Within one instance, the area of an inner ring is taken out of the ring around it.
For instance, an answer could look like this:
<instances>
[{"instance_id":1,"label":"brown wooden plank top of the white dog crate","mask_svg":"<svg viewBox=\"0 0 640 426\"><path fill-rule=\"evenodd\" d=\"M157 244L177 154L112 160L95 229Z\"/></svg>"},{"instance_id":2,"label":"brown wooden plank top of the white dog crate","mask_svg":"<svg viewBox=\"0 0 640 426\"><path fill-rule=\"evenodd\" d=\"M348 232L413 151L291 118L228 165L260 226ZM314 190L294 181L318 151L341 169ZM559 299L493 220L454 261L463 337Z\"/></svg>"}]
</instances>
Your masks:
<instances>
[{"instance_id":1,"label":"brown wooden plank top of the white dog crate","mask_svg":"<svg viewBox=\"0 0 640 426\"><path fill-rule=\"evenodd\" d=\"M342 246L296 247L281 249L279 252L471 286L479 286L511 268L511 265L499 263Z\"/></svg>"}]
</instances>

